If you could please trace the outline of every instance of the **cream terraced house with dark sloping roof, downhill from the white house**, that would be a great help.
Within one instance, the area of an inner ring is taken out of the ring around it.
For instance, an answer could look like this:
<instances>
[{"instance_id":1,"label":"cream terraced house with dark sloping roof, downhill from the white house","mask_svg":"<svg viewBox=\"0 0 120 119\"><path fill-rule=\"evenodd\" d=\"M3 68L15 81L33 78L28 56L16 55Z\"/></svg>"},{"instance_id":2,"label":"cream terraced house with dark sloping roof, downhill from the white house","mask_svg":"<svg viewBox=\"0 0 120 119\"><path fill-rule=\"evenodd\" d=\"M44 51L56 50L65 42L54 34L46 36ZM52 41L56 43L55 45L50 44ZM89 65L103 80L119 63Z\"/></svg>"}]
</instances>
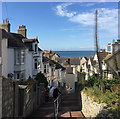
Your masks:
<instances>
[{"instance_id":1,"label":"cream terraced house with dark sloping roof, downhill from the white house","mask_svg":"<svg viewBox=\"0 0 120 119\"><path fill-rule=\"evenodd\" d=\"M42 72L45 74L50 86L63 85L65 68L48 57L43 57Z\"/></svg>"}]
</instances>

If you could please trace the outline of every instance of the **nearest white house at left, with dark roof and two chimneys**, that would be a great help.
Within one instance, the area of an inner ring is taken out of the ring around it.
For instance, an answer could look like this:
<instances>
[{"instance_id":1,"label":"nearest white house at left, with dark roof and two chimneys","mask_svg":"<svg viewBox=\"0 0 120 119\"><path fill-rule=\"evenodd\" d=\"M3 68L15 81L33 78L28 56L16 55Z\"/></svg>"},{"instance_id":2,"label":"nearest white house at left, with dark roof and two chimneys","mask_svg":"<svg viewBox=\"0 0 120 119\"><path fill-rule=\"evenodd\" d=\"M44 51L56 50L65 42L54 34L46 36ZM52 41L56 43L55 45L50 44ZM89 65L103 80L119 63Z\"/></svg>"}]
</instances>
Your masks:
<instances>
[{"instance_id":1,"label":"nearest white house at left, with dark roof and two chimneys","mask_svg":"<svg viewBox=\"0 0 120 119\"><path fill-rule=\"evenodd\" d=\"M28 39L25 26L19 26L18 33L10 31L10 23L3 20L2 33L2 76L16 80L27 80L42 71L42 50L38 39Z\"/></svg>"}]
</instances>

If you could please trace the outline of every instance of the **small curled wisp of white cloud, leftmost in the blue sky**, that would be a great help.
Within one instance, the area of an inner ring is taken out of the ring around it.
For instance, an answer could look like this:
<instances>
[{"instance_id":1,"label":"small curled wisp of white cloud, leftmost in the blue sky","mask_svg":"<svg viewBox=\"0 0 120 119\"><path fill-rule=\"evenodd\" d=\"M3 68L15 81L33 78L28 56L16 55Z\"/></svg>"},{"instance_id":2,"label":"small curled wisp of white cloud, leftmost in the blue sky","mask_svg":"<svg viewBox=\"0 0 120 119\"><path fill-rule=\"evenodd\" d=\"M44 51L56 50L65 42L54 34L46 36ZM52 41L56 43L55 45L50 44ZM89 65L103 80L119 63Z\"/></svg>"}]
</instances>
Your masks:
<instances>
[{"instance_id":1,"label":"small curled wisp of white cloud, leftmost in the blue sky","mask_svg":"<svg viewBox=\"0 0 120 119\"><path fill-rule=\"evenodd\" d=\"M64 3L61 5L56 6L56 13L59 16L66 16L66 17L73 17L76 12L68 12L66 7L72 5L73 3Z\"/></svg>"}]
</instances>

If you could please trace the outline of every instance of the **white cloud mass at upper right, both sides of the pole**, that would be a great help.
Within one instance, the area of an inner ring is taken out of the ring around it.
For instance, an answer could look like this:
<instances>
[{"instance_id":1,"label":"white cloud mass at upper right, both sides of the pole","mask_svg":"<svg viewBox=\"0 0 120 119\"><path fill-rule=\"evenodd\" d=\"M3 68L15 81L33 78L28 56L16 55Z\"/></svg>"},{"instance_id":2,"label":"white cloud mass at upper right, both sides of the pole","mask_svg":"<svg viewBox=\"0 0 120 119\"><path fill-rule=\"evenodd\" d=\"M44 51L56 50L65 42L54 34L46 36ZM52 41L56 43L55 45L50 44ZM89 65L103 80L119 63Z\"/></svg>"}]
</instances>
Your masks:
<instances>
[{"instance_id":1,"label":"white cloud mass at upper right, both sides of the pole","mask_svg":"<svg viewBox=\"0 0 120 119\"><path fill-rule=\"evenodd\" d=\"M57 15L66 16L70 22L79 23L84 26L93 26L95 24L95 9L89 12L68 12L67 7L72 3L58 5ZM100 30L105 30L117 35L118 30L118 9L99 8L98 26Z\"/></svg>"}]
</instances>

